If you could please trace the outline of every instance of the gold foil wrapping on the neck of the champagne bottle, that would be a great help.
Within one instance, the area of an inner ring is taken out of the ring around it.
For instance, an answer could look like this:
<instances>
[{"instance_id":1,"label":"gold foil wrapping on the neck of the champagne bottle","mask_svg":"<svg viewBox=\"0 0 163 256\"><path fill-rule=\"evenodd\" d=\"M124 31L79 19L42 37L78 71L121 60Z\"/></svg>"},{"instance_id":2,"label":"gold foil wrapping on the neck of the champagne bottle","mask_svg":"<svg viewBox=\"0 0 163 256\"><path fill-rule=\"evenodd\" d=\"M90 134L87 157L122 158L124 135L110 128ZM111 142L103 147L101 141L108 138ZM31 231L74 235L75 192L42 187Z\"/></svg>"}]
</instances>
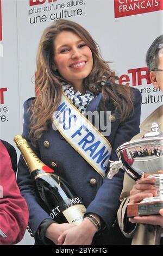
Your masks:
<instances>
[{"instance_id":1,"label":"gold foil wrapping on the neck of the champagne bottle","mask_svg":"<svg viewBox=\"0 0 163 256\"><path fill-rule=\"evenodd\" d=\"M32 173L36 169L41 169L45 164L36 156L32 148L30 148L26 139L22 135L14 138L17 148L21 151L24 161L26 162L29 172Z\"/></svg>"}]
</instances>

